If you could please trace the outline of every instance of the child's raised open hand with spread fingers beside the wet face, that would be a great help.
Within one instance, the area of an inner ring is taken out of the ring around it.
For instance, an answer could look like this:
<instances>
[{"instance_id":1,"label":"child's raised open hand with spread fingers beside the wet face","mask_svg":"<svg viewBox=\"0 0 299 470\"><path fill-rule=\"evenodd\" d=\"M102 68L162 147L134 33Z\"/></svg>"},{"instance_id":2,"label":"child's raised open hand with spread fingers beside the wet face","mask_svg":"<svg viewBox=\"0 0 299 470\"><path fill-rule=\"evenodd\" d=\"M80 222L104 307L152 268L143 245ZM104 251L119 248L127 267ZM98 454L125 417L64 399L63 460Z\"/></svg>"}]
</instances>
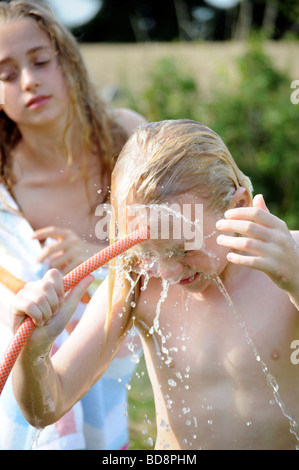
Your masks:
<instances>
[{"instance_id":1,"label":"child's raised open hand with spread fingers beside the wet face","mask_svg":"<svg viewBox=\"0 0 299 470\"><path fill-rule=\"evenodd\" d=\"M252 207L230 209L216 227L221 232L217 242L236 250L227 259L236 265L263 271L291 296L299 291L299 247L284 221L271 214L262 195L253 199ZM243 252L243 253L242 253Z\"/></svg>"}]
</instances>

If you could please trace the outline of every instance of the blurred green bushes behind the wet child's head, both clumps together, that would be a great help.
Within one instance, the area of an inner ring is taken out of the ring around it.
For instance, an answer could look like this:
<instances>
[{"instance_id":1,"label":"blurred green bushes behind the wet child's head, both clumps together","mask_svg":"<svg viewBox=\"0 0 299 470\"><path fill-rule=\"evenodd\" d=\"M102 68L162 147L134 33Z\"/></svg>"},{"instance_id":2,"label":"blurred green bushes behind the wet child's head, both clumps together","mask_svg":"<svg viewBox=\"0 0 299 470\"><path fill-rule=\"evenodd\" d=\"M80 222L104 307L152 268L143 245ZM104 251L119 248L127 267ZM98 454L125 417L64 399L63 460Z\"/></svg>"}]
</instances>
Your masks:
<instances>
[{"instance_id":1,"label":"blurred green bushes behind the wet child's head, both clumps together","mask_svg":"<svg viewBox=\"0 0 299 470\"><path fill-rule=\"evenodd\" d=\"M299 227L299 105L290 101L291 79L278 71L252 40L238 59L239 85L200 93L190 72L166 57L157 62L149 85L129 105L149 121L190 118L204 122L225 141L269 209L290 229ZM138 106L136 106L138 103Z\"/></svg>"}]
</instances>

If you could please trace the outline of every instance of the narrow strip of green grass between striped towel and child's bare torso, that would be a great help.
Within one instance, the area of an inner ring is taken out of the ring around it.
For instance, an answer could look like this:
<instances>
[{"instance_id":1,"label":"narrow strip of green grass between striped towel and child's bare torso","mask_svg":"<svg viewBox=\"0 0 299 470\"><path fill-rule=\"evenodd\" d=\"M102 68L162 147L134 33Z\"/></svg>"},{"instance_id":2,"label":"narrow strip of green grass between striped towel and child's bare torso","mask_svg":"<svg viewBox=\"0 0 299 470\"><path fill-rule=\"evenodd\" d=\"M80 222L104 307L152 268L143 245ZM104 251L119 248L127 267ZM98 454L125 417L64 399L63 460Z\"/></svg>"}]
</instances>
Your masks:
<instances>
[{"instance_id":1,"label":"narrow strip of green grass between striped towel and child's bare torso","mask_svg":"<svg viewBox=\"0 0 299 470\"><path fill-rule=\"evenodd\" d=\"M128 392L131 450L153 450L156 442L156 413L152 387L143 356L133 374Z\"/></svg>"}]
</instances>

